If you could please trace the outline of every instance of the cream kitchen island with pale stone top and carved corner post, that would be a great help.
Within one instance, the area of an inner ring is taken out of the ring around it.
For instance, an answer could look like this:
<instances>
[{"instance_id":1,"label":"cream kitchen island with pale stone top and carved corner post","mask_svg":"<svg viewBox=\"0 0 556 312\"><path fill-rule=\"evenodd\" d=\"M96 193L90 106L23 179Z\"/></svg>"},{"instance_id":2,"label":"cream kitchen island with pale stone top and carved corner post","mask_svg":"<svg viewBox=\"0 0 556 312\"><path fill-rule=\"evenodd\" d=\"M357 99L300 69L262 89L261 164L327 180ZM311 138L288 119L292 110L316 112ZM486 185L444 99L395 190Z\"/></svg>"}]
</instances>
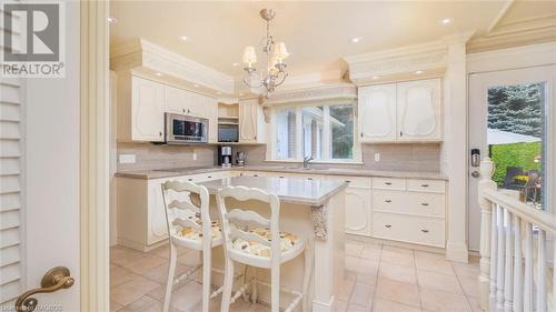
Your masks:
<instances>
[{"instance_id":1,"label":"cream kitchen island with pale stone top and carved corner post","mask_svg":"<svg viewBox=\"0 0 556 312\"><path fill-rule=\"evenodd\" d=\"M344 219L347 183L324 179L234 177L200 183L211 194L211 213L216 212L214 195L228 185L258 188L272 192L280 199L280 230L295 233L312 242L314 268L308 299L314 312L334 311L334 300L344 280ZM242 202L242 209L254 210L262 215L268 208L259 202ZM214 266L222 268L222 253L214 253ZM304 259L298 256L282 264L281 285L301 290ZM270 281L269 272L257 271L257 279ZM221 276L214 283L220 284ZM259 288L259 301L270 302L269 290ZM287 306L290 298L281 295L281 305ZM300 311L300 308L297 309Z\"/></svg>"}]
</instances>

